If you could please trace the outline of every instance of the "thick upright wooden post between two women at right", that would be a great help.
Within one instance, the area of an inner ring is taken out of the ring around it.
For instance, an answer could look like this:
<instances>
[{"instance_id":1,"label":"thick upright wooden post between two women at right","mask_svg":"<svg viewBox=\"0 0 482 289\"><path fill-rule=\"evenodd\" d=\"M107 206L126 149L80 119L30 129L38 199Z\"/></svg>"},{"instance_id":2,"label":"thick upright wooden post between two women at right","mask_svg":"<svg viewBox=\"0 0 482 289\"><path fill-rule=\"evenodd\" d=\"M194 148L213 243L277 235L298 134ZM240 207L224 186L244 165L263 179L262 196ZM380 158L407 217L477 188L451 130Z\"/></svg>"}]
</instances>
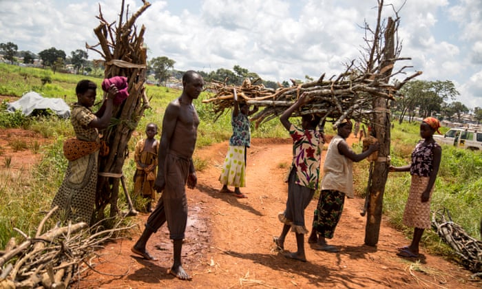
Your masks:
<instances>
[{"instance_id":1,"label":"thick upright wooden post between two women at right","mask_svg":"<svg viewBox=\"0 0 482 289\"><path fill-rule=\"evenodd\" d=\"M377 37L377 36L375 36ZM395 63L395 21L390 17L385 31L384 58L379 67L381 79L388 83L389 76L392 73L392 67ZM381 224L381 213L383 211L383 200L386 179L388 177L388 157L390 156L390 106L389 101L385 98L375 98L373 101L374 114L373 117L375 137L380 143L378 151L378 159L373 167L372 181L368 188L369 204L366 214L365 227L365 244L375 246L378 243L378 237Z\"/></svg>"}]
</instances>

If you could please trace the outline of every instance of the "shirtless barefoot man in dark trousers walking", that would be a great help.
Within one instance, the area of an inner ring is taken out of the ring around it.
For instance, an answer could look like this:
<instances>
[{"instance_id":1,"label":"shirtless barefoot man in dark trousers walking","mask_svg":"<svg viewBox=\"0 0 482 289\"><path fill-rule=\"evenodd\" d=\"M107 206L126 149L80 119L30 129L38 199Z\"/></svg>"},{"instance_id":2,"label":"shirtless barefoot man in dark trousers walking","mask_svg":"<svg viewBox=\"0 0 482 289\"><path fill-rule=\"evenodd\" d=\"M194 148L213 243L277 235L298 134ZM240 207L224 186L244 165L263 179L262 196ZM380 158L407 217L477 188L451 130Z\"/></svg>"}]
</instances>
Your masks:
<instances>
[{"instance_id":1,"label":"shirtless barefoot man in dark trousers walking","mask_svg":"<svg viewBox=\"0 0 482 289\"><path fill-rule=\"evenodd\" d=\"M158 175L154 189L163 191L154 211L149 215L143 234L132 247L132 252L148 260L156 260L145 246L152 233L167 221L169 238L174 240L174 264L169 274L189 280L182 268L182 239L187 224L185 185L193 189L198 182L192 154L198 136L199 118L192 100L202 92L204 81L197 72L189 70L182 76L182 94L167 105L163 119L163 133L158 153Z\"/></svg>"}]
</instances>

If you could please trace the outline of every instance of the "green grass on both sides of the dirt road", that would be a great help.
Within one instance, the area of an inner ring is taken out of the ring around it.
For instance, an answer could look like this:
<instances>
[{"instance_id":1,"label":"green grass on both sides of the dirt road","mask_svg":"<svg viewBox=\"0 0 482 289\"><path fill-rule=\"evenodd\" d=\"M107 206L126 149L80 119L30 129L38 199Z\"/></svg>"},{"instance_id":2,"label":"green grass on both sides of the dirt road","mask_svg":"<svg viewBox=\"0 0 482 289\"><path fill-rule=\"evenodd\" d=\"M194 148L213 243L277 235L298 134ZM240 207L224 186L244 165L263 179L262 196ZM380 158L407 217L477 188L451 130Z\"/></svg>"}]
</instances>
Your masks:
<instances>
[{"instance_id":1,"label":"green grass on both sides of the dirt road","mask_svg":"<svg viewBox=\"0 0 482 289\"><path fill-rule=\"evenodd\" d=\"M50 78L52 83L42 84L42 78ZM21 96L25 92L34 90L45 97L63 98L67 103L76 101L75 85L81 79L88 78L100 87L101 78L90 78L72 74L52 74L48 70L17 67L0 64L0 94L7 96ZM101 95L98 89L98 95ZM166 87L148 86L147 95L151 98L151 109L145 111L145 117L140 120L138 130L129 142L129 151L134 151L134 144L145 137L144 129L148 122L155 122L161 129L163 112L170 100L176 98L180 91ZM201 100L207 98L203 93L195 101L201 118L199 128L198 147L229 139L231 125L229 113L213 122L209 105L203 105ZM17 174L8 173L2 169L0 173L0 248L8 242L10 236L17 236L13 228L32 235L36 225L43 217L41 211L47 211L52 197L61 184L67 162L62 155L62 143L73 135L68 120L57 118L25 118L21 114L6 114L0 112L0 129L5 127L22 127L41 133L44 138L52 140L44 147L35 145L34 151L41 153L41 162L30 172L19 171ZM329 125L327 133L333 133ZM286 138L287 133L277 120L271 120L258 129L253 129L253 138ZM392 129L391 161L394 165L410 162L410 153L419 140L419 124L404 123L395 125ZM19 146L19 148L25 146ZM32 149L32 147L30 147ZM353 149L361 151L361 144L354 144ZM0 147L0 153L2 148ZM131 153L132 154L132 153ZM454 222L460 224L473 237L479 236L479 222L482 211L482 154L480 152L465 151L454 147L443 146L443 157L439 178L432 200L432 210L448 208ZM195 159L196 167L202 170L207 160ZM6 167L7 164L0 164ZM10 165L10 164L9 164ZM368 178L368 162L355 164L355 189L359 195L364 195ZM124 173L127 186L132 188L132 174L134 162L129 158L125 162ZM404 231L411 238L412 228L401 224L404 204L410 186L408 173L390 173L384 193L384 213L392 224ZM123 195L121 195L123 197ZM121 200L122 201L122 200ZM140 202L135 200L135 202ZM121 202L125 204L125 202ZM423 244L431 252L450 255L448 247L440 242L433 231L423 235Z\"/></svg>"}]
</instances>

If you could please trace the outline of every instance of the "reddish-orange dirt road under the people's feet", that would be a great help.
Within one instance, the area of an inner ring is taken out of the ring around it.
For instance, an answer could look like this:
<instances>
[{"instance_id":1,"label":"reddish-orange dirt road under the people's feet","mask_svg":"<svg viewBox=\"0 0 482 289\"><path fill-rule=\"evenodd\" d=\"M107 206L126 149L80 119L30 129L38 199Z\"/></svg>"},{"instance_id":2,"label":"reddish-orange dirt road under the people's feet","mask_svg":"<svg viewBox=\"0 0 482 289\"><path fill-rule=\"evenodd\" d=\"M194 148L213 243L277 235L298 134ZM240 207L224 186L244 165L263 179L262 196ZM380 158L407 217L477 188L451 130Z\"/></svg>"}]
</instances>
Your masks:
<instances>
[{"instance_id":1,"label":"reddish-orange dirt road under the people's feet","mask_svg":"<svg viewBox=\"0 0 482 289\"><path fill-rule=\"evenodd\" d=\"M355 139L353 139L355 140ZM352 140L352 141L353 141ZM207 169L198 172L198 186L187 190L189 220L182 251L184 268L192 281L167 274L172 244L165 226L149 240L147 249L158 261L147 261L130 248L144 228L146 214L136 217L139 230L132 238L107 244L93 259L96 270L83 275L81 288L480 288L468 281L470 272L428 255L419 259L395 255L410 242L386 222L377 247L364 245L365 219L359 212L364 200L346 200L342 220L331 244L339 253L313 250L306 244L308 261L286 259L273 246L281 233L277 214L283 211L287 186L283 182L291 162L290 139L255 139L248 150L248 196L238 199L220 193L218 177L228 144L198 149L196 158ZM316 200L306 209L306 224L313 220ZM286 250L296 250L295 236L286 238Z\"/></svg>"}]
</instances>

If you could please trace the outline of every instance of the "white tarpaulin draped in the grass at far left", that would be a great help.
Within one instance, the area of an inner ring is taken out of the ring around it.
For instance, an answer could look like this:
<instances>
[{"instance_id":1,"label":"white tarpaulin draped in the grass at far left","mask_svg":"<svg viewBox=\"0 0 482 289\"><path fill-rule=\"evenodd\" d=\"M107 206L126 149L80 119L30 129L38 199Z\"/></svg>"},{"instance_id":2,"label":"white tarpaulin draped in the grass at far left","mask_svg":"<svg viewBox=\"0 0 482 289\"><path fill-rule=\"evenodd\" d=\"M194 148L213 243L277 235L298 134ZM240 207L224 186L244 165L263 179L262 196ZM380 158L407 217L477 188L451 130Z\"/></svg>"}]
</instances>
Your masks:
<instances>
[{"instance_id":1,"label":"white tarpaulin draped in the grass at far left","mask_svg":"<svg viewBox=\"0 0 482 289\"><path fill-rule=\"evenodd\" d=\"M61 118L70 117L70 107L62 98L44 98L36 92L28 92L13 103L8 103L9 111L21 109L25 116L30 116L35 109L50 109Z\"/></svg>"}]
</instances>

